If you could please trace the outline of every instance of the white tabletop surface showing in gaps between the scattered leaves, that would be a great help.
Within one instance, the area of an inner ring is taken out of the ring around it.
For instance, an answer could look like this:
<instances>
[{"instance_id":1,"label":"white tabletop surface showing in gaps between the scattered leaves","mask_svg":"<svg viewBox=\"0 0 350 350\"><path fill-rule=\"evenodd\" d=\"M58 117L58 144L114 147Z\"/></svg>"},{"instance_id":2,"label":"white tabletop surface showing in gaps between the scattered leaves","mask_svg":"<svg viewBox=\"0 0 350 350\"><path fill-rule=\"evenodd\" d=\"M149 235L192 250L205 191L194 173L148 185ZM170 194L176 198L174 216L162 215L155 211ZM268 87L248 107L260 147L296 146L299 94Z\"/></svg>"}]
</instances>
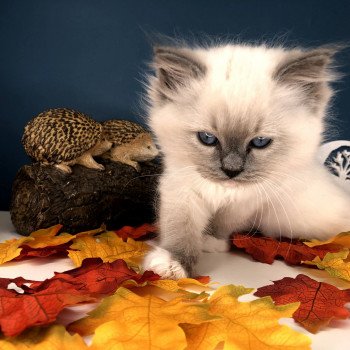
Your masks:
<instances>
[{"instance_id":1,"label":"white tabletop surface showing in gaps between the scattered leaves","mask_svg":"<svg viewBox=\"0 0 350 350\"><path fill-rule=\"evenodd\" d=\"M14 231L7 212L0 212L0 241L20 237ZM14 278L22 276L28 279L43 280L53 276L54 271L62 272L74 268L69 259L32 259L22 262L6 263L0 266L0 277ZM350 283L342 282L328 276L324 271L288 266L282 261L272 265L262 264L252 260L244 253L204 253L200 259L197 272L209 275L217 286L224 284L244 285L258 288L271 284L271 281L283 277L295 277L299 273L309 275L318 280L331 283L339 288L350 288ZM248 298L244 298L247 300ZM348 305L350 307L350 305ZM89 307L76 307L74 312L64 311L60 321L67 324L78 319L89 311ZM312 339L312 349L315 350L350 350L350 319L331 322L331 326L321 330L316 335L299 327L293 320L283 320L294 329L308 334Z\"/></svg>"}]
</instances>

